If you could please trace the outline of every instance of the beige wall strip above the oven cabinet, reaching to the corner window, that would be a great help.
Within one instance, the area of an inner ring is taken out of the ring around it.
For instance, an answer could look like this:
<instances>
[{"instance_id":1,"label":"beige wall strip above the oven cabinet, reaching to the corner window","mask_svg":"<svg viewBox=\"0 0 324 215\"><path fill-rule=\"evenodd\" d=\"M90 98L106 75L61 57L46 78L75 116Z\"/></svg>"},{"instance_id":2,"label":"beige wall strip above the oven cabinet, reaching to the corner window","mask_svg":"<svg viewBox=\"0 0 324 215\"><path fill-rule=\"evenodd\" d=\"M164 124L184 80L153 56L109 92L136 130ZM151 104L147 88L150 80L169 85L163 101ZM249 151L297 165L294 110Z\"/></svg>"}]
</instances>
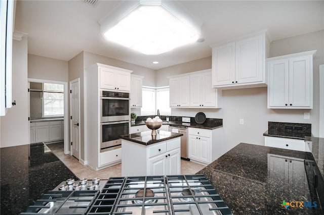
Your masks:
<instances>
[{"instance_id":1,"label":"beige wall strip above the oven cabinet, reaching to the corner window","mask_svg":"<svg viewBox=\"0 0 324 215\"><path fill-rule=\"evenodd\" d=\"M132 74L144 76L144 78L143 78L144 86L151 86L151 87L156 86L155 70L152 70L152 69L149 69L146 67L142 67L139 65L135 65L135 64L130 64L130 63L127 63L124 61L119 61L116 59L96 55L94 53L90 53L90 52L86 52L86 51L84 52L84 56L85 56L84 57L85 68L87 68L95 63L100 63L100 64L105 64L105 65L110 65L110 66L114 66L114 67L132 70L133 71Z\"/></svg>"}]
</instances>

